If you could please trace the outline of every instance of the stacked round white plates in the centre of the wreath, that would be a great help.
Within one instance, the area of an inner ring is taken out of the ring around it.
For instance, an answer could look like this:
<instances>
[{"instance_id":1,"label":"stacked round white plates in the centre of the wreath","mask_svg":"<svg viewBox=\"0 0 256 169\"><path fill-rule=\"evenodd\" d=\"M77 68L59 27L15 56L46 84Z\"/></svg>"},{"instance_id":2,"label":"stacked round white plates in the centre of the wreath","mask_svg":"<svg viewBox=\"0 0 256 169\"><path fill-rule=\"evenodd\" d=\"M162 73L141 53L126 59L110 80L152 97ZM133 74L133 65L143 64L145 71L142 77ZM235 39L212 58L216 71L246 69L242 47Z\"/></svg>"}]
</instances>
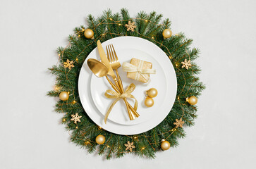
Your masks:
<instances>
[{"instance_id":1,"label":"stacked round white plates in the centre of the wreath","mask_svg":"<svg viewBox=\"0 0 256 169\"><path fill-rule=\"evenodd\" d=\"M126 61L130 62L131 58L139 58L144 61L150 61L152 68L157 70L157 74L150 75L150 84L144 84L126 77L126 73L122 68L118 69L118 73L126 88L133 82L136 86L132 93L138 99L139 118L135 120L128 119L128 113L124 102L118 101L109 115L109 119L104 124L104 115L113 100L106 99L104 92L111 89L111 86L104 77L99 78L92 74L87 66L88 58L96 58L100 60L97 48L95 48L83 63L80 70L78 80L78 91L80 101L89 117L104 130L114 132L116 134L139 134L146 132L161 123L173 106L176 98L176 73L166 56L157 45L146 39L139 37L116 37L102 43L105 49L107 44L113 44L116 49L121 64ZM147 108L144 106L145 91L154 87L158 90L158 96L154 98L154 106ZM133 105L133 101L130 101Z\"/></svg>"}]
</instances>

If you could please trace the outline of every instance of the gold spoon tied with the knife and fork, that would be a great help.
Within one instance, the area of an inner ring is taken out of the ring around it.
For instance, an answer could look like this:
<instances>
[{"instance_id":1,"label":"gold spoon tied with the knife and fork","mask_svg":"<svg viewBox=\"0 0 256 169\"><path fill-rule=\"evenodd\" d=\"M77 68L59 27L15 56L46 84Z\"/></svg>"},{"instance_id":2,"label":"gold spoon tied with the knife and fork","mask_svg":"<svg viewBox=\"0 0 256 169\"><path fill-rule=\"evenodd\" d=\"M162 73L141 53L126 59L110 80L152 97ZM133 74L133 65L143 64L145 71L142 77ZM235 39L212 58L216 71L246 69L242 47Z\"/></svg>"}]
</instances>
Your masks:
<instances>
[{"instance_id":1,"label":"gold spoon tied with the knife and fork","mask_svg":"<svg viewBox=\"0 0 256 169\"><path fill-rule=\"evenodd\" d=\"M98 61L95 58L89 58L87 60L87 65L89 66L90 70L92 70L92 73L95 74L97 77L106 77L106 80L109 81L109 84L111 84L111 87L113 87L113 89L118 92L118 94L120 94L118 88L115 86L115 84L113 82L111 82L111 80L109 80L109 77L107 77L107 73L109 72L109 68L106 67L106 65L104 63L102 63L101 61ZM130 106L130 104L128 103L128 107L130 108L131 112L134 114L134 108L133 106Z\"/></svg>"}]
</instances>

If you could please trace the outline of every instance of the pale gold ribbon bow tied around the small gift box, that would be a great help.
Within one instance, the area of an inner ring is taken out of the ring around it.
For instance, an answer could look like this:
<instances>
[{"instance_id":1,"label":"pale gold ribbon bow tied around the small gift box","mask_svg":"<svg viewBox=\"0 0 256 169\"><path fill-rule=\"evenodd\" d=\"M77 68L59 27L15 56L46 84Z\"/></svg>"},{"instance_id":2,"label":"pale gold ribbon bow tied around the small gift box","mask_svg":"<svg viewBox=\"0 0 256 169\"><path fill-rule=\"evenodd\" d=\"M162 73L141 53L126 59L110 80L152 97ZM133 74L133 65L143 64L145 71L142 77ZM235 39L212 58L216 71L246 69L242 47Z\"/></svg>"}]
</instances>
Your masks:
<instances>
[{"instance_id":1,"label":"pale gold ribbon bow tied around the small gift box","mask_svg":"<svg viewBox=\"0 0 256 169\"><path fill-rule=\"evenodd\" d=\"M124 62L122 65L123 71L125 72L136 72L135 80L139 80L139 75L141 75L142 78L144 78L146 81L148 80L145 74L156 74L155 69L142 69L143 62L140 60L140 63L137 66L132 65L130 63Z\"/></svg>"}]
</instances>

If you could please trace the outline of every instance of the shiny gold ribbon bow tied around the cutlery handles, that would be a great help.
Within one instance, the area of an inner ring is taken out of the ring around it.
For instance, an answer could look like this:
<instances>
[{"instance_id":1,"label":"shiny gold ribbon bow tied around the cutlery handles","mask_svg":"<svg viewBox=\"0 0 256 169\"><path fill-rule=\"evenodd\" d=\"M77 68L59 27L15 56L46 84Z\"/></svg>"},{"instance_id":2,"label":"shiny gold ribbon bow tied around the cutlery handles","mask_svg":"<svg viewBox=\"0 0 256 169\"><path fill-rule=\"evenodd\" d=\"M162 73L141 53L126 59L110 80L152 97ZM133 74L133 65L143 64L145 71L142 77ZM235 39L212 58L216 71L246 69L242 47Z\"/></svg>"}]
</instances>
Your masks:
<instances>
[{"instance_id":1,"label":"shiny gold ribbon bow tied around the cutlery handles","mask_svg":"<svg viewBox=\"0 0 256 169\"><path fill-rule=\"evenodd\" d=\"M131 98L131 99L135 99L135 97L131 94L133 92L133 90L135 89L135 85L132 83L130 84L126 91L123 92L122 94L119 94L117 92L114 92L111 89L107 89L105 92L105 96L109 99L116 99L113 101L113 103L111 104L111 106L109 107L109 110L106 112L105 118L104 118L104 122L106 124L106 120L109 117L109 113L111 112L112 108L115 106L116 102L119 101L120 99L123 98ZM134 104L134 110L137 111L138 108L138 101L137 99L135 99L135 104Z\"/></svg>"}]
</instances>

